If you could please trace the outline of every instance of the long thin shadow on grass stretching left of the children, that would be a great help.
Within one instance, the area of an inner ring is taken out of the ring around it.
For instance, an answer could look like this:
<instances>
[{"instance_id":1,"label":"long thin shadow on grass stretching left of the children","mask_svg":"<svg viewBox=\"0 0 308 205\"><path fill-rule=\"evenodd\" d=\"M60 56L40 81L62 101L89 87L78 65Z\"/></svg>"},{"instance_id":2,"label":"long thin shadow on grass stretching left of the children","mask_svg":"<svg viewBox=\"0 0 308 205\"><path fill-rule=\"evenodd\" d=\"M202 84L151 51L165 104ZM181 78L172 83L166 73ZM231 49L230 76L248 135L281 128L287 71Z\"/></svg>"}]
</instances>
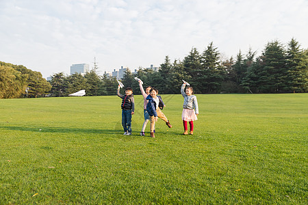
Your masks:
<instances>
[{"instance_id":1,"label":"long thin shadow on grass stretching left of the children","mask_svg":"<svg viewBox=\"0 0 308 205\"><path fill-rule=\"evenodd\" d=\"M36 127L36 126L0 126L11 131L29 131L38 133L97 133L97 134L120 134L122 129L91 129L91 128L64 128L64 127Z\"/></svg>"}]
</instances>

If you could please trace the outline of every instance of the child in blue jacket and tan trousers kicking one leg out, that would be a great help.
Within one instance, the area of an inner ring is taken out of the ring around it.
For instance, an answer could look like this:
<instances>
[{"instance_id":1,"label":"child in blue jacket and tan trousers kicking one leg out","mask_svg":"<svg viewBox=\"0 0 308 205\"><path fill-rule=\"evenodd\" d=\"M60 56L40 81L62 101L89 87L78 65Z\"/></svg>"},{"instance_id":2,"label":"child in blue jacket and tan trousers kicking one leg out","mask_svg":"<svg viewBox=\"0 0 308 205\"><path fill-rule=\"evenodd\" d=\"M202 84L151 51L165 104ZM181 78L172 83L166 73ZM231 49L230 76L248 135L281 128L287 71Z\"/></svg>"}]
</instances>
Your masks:
<instances>
[{"instance_id":1,"label":"child in blue jacket and tan trousers kicking one leg out","mask_svg":"<svg viewBox=\"0 0 308 205\"><path fill-rule=\"evenodd\" d=\"M150 90L149 96L146 97L146 100L149 100L148 104L146 105L146 111L148 111L148 113L150 115L151 137L155 137L154 128L155 128L155 122L157 122L158 118L164 120L166 122L166 125L169 128L172 128L169 120L166 118L164 113L162 113L162 111L160 111L160 109L163 109L164 107L166 107L166 105L164 105L164 102L162 101L162 97L157 96L157 94L158 94L158 90L156 88L152 87L152 89Z\"/></svg>"}]
</instances>

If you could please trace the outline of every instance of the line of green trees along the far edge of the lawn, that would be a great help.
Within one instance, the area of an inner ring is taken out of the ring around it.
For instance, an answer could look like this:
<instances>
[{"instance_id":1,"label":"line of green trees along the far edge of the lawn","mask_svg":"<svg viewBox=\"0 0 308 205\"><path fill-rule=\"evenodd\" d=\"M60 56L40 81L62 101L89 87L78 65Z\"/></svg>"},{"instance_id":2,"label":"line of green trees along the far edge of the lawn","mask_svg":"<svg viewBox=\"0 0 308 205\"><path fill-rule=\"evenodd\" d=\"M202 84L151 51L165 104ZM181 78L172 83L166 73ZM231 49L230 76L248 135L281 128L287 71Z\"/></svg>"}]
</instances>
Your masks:
<instances>
[{"instance_id":1,"label":"line of green trees along the far edge of the lawn","mask_svg":"<svg viewBox=\"0 0 308 205\"><path fill-rule=\"evenodd\" d=\"M284 45L273 40L261 55L256 53L249 49L224 59L211 42L203 52L192 48L182 60L170 61L167 55L158 72L149 68L127 71L121 81L134 94L140 94L134 77L142 79L144 86L156 87L160 94L179 94L182 79L196 94L308 92L308 49L301 49L298 41L292 38ZM99 75L96 65L84 75L53 74L47 82L40 72L0 61L0 80L0 98L68 96L83 89L86 96L114 95L118 86L115 77Z\"/></svg>"}]
</instances>

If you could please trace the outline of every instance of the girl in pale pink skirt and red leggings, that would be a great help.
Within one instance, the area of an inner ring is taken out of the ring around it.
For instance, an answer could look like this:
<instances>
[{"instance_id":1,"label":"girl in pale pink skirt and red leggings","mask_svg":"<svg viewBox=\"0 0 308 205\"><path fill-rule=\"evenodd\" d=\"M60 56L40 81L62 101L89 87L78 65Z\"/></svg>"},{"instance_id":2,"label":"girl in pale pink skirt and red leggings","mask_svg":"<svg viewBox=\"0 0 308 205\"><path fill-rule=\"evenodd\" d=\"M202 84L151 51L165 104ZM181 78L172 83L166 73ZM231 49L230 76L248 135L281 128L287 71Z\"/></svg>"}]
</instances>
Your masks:
<instances>
[{"instance_id":1,"label":"girl in pale pink skirt and red leggings","mask_svg":"<svg viewBox=\"0 0 308 205\"><path fill-rule=\"evenodd\" d=\"M194 96L194 90L192 87L186 87L184 92L186 83L183 83L181 87L181 94L184 97L183 104L183 112L182 112L182 120L184 126L183 135L188 135L188 125L187 122L190 122L190 135L194 134L194 120L198 120L197 115L198 111L198 102L196 100L196 96ZM194 111L195 110L195 111Z\"/></svg>"}]
</instances>

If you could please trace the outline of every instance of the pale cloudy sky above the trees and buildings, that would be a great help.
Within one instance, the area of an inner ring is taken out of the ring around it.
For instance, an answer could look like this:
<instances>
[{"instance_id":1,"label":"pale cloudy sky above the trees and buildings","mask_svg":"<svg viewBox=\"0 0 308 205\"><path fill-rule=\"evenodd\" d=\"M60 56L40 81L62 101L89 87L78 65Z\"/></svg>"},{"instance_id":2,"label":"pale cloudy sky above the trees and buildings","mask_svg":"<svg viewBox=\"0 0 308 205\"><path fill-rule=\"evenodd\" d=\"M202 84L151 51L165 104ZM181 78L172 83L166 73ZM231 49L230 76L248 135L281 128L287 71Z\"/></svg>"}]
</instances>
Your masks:
<instances>
[{"instance_id":1,"label":"pale cloudy sky above the trees and buildings","mask_svg":"<svg viewBox=\"0 0 308 205\"><path fill-rule=\"evenodd\" d=\"M213 42L225 59L273 40L308 49L308 0L0 0L0 61L49 77L183 60Z\"/></svg>"}]
</instances>

